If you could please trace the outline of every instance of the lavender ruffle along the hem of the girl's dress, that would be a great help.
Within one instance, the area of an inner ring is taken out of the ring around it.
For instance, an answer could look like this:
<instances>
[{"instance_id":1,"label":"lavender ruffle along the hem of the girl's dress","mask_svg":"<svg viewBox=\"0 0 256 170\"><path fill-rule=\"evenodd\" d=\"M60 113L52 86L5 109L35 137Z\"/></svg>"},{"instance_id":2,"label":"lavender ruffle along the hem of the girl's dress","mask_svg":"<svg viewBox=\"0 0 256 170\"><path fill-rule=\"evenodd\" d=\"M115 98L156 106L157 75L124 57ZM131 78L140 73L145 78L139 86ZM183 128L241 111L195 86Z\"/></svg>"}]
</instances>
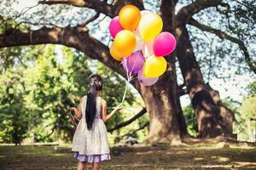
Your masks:
<instances>
[{"instance_id":1,"label":"lavender ruffle along the hem of the girl's dress","mask_svg":"<svg viewBox=\"0 0 256 170\"><path fill-rule=\"evenodd\" d=\"M100 161L110 160L110 154L100 154L100 155L79 155L79 152L75 152L74 157L79 161L89 162L89 163L99 163Z\"/></svg>"}]
</instances>

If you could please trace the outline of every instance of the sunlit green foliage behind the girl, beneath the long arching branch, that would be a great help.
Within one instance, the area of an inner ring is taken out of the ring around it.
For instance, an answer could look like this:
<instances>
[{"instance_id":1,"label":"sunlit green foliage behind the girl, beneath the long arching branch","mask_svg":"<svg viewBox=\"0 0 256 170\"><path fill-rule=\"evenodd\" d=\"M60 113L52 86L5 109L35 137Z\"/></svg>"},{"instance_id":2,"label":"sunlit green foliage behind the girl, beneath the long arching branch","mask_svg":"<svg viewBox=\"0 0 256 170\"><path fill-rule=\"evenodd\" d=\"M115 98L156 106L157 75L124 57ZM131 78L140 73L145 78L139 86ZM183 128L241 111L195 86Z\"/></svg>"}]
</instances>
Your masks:
<instances>
[{"instance_id":1,"label":"sunlit green foliage behind the girl, beneath the long arching branch","mask_svg":"<svg viewBox=\"0 0 256 170\"><path fill-rule=\"evenodd\" d=\"M20 143L25 137L32 137L36 142L72 139L73 127L67 112L71 106L79 105L80 98L86 94L92 72L102 76L102 97L108 102L108 112L122 100L125 79L73 48L40 45L3 48L0 53L9 56L6 59L13 58L2 68L0 77L2 143ZM135 104L140 108L142 102L137 102L132 90L128 88L125 107ZM116 114L107 126L114 127L135 113L137 110ZM116 134L119 133L118 130Z\"/></svg>"}]
</instances>

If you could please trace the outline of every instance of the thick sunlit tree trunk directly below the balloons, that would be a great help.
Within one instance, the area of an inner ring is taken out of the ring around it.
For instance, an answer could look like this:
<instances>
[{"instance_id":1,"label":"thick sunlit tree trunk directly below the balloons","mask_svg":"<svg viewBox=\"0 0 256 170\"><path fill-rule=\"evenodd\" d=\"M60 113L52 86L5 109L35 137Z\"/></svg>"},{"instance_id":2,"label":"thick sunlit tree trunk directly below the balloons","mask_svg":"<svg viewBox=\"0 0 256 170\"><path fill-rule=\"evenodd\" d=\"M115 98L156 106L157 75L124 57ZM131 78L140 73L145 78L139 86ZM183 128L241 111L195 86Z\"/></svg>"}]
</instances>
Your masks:
<instances>
[{"instance_id":1,"label":"thick sunlit tree trunk directly below the balloons","mask_svg":"<svg viewBox=\"0 0 256 170\"><path fill-rule=\"evenodd\" d=\"M137 88L149 114L148 142L180 144L187 126L177 96L175 59L168 59L168 68L159 81L150 87ZM137 83L136 83L137 85Z\"/></svg>"}]
</instances>

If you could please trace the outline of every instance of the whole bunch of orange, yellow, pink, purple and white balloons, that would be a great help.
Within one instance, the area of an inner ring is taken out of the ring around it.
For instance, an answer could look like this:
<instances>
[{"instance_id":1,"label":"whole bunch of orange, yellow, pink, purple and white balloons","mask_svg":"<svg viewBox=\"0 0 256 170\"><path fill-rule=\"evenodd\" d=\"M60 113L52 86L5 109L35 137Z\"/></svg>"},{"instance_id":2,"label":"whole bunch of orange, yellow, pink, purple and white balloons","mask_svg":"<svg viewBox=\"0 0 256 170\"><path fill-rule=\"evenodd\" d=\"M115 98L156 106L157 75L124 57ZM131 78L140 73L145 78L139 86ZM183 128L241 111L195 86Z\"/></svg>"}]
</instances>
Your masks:
<instances>
[{"instance_id":1,"label":"whole bunch of orange, yellow, pink, purple and white balloons","mask_svg":"<svg viewBox=\"0 0 256 170\"><path fill-rule=\"evenodd\" d=\"M110 21L110 54L122 61L129 81L137 75L143 86L151 86L166 71L164 56L172 53L176 40L169 32L160 33L162 27L158 14L140 11L134 5L125 5Z\"/></svg>"}]
</instances>

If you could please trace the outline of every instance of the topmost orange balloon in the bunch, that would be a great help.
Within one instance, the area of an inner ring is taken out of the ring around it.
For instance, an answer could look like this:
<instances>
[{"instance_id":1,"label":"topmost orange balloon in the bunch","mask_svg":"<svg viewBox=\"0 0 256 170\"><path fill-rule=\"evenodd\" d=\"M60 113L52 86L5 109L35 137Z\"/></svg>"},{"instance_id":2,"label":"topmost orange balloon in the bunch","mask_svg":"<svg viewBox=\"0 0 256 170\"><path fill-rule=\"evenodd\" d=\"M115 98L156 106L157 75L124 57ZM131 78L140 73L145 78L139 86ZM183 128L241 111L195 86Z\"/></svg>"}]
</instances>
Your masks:
<instances>
[{"instance_id":1,"label":"topmost orange balloon in the bunch","mask_svg":"<svg viewBox=\"0 0 256 170\"><path fill-rule=\"evenodd\" d=\"M120 24L126 30L134 31L141 18L140 10L134 5L125 5L119 12Z\"/></svg>"}]
</instances>

